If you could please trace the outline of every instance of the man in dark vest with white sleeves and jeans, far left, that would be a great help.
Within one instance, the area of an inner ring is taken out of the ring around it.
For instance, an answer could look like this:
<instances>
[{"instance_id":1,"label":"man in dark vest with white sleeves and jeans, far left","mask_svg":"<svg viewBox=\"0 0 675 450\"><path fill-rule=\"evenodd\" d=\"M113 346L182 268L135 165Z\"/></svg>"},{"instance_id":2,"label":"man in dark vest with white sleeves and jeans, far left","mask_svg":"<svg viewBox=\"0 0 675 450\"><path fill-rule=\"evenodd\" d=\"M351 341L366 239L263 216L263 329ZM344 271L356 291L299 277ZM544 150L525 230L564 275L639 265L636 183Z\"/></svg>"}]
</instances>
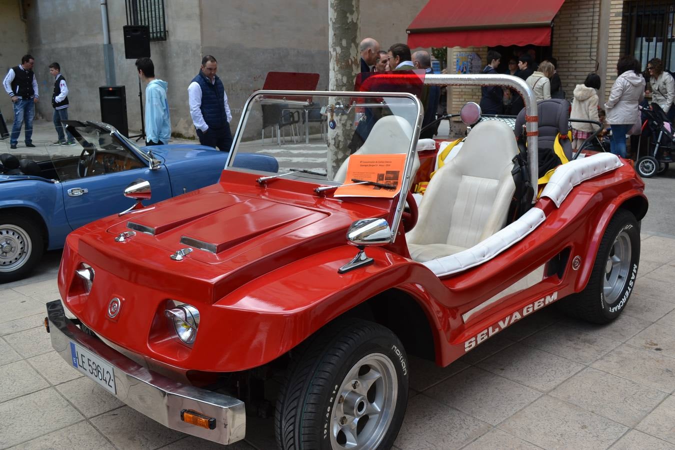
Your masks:
<instances>
[{"instance_id":1,"label":"man in dark vest with white sleeves and jeans, far left","mask_svg":"<svg viewBox=\"0 0 675 450\"><path fill-rule=\"evenodd\" d=\"M33 117L35 116L34 103L38 103L38 82L33 74L35 59L30 55L21 58L21 64L12 67L7 72L3 86L14 104L14 125L9 136L9 148L16 148L21 133L21 127L26 122L26 147L34 147L30 140L33 134Z\"/></svg>"}]
</instances>

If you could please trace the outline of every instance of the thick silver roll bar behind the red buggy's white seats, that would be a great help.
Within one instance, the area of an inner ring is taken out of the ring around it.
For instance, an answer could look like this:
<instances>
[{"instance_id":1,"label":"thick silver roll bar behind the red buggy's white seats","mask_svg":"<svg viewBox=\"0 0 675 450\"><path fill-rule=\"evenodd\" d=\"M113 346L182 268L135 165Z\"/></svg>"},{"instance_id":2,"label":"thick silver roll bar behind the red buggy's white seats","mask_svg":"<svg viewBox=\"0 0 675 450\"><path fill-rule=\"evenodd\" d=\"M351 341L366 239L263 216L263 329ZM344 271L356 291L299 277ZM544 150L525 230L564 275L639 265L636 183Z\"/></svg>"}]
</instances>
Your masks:
<instances>
[{"instance_id":1,"label":"thick silver roll bar behind the red buggy's white seats","mask_svg":"<svg viewBox=\"0 0 675 450\"><path fill-rule=\"evenodd\" d=\"M506 86L518 91L525 101L525 131L527 133L527 165L533 186L539 179L539 116L535 93L530 86L512 75L487 74L427 74L424 83L428 86ZM516 130L517 131L517 130ZM532 204L537 202L537 196Z\"/></svg>"}]
</instances>

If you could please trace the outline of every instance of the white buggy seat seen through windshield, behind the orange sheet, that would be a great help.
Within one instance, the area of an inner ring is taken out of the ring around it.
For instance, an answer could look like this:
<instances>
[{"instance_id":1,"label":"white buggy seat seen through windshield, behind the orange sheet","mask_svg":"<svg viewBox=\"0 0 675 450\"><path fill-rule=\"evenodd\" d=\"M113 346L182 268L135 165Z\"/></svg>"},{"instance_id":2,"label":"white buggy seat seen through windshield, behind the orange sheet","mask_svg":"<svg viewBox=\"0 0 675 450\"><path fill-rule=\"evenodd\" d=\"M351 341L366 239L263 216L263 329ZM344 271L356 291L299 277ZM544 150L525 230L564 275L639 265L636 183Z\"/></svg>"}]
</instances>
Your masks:
<instances>
[{"instance_id":1,"label":"white buggy seat seen through windshield, behind the orange sheet","mask_svg":"<svg viewBox=\"0 0 675 450\"><path fill-rule=\"evenodd\" d=\"M412 125L406 119L398 115L387 115L375 122L366 142L354 154L407 153L410 149L411 137ZM333 178L335 181L344 183L348 163L349 157L342 162L338 173ZM417 152L414 152L414 161L412 163L413 175L419 167L420 160Z\"/></svg>"}]
</instances>

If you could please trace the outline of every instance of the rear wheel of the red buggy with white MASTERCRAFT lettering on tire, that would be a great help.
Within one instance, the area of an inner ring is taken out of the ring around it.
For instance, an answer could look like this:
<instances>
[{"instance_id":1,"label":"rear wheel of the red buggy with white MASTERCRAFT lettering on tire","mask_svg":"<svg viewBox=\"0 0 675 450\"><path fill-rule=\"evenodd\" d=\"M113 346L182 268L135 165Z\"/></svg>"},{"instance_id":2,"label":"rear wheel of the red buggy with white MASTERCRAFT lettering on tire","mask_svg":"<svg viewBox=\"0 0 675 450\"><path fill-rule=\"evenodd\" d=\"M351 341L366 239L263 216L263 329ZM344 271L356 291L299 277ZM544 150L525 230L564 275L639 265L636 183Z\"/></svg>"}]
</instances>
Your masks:
<instances>
[{"instance_id":1,"label":"rear wheel of the red buggy with white MASTERCRAFT lettering on tire","mask_svg":"<svg viewBox=\"0 0 675 450\"><path fill-rule=\"evenodd\" d=\"M602 236L588 284L583 291L564 298L561 308L589 322L612 322L630 299L639 262L640 225L632 213L620 209Z\"/></svg>"}]
</instances>

